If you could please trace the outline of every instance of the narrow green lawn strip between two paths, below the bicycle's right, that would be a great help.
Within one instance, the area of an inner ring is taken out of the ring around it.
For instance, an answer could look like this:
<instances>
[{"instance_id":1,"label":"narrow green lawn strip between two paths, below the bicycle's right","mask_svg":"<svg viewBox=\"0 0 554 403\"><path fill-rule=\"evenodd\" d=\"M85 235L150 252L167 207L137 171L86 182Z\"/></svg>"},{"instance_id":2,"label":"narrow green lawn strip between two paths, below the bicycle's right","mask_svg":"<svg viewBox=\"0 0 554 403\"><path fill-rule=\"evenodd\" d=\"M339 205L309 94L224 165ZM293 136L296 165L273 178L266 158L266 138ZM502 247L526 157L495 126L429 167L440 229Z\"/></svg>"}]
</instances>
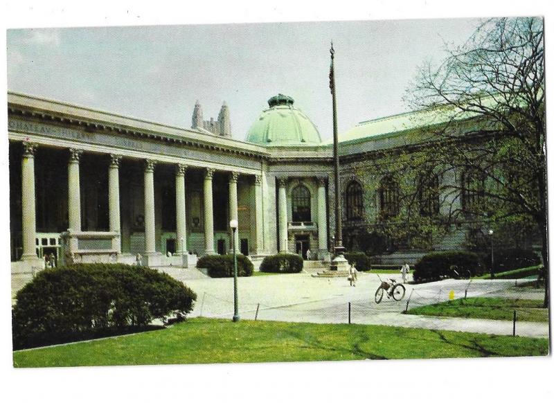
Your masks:
<instances>
[{"instance_id":1,"label":"narrow green lawn strip between two paths, below the bicycle's right","mask_svg":"<svg viewBox=\"0 0 554 403\"><path fill-rule=\"evenodd\" d=\"M424 307L415 307L409 310L408 314L511 321L514 310L517 312L518 321L548 322L548 309L542 307L542 301L529 299L456 299Z\"/></svg>"}]
</instances>

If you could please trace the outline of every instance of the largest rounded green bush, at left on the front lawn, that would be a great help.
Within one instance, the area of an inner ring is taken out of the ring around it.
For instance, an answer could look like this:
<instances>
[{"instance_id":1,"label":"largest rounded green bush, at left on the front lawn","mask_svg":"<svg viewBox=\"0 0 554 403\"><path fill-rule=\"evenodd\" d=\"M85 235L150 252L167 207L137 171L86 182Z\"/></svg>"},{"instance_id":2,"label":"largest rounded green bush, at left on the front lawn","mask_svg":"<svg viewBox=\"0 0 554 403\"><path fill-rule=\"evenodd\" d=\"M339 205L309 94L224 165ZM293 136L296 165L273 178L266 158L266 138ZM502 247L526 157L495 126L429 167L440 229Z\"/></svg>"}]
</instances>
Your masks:
<instances>
[{"instance_id":1,"label":"largest rounded green bush, at left on the front lawn","mask_svg":"<svg viewBox=\"0 0 554 403\"><path fill-rule=\"evenodd\" d=\"M12 310L15 349L186 316L193 310L196 294L168 274L148 267L98 263L40 271L16 298Z\"/></svg>"}]
</instances>

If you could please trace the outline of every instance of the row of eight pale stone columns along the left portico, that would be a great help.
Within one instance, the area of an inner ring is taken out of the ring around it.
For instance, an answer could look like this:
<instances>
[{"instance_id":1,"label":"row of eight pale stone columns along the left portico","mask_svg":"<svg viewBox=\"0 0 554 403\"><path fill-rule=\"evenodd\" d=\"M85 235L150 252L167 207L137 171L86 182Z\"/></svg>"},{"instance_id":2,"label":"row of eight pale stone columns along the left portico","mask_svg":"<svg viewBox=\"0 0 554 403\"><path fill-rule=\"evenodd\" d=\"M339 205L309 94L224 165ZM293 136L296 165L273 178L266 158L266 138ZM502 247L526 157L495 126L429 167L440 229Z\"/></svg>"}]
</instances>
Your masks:
<instances>
[{"instance_id":1,"label":"row of eight pale stone columns along the left portico","mask_svg":"<svg viewBox=\"0 0 554 403\"><path fill-rule=\"evenodd\" d=\"M35 212L35 151L37 145L25 141L24 152L21 159L21 205L23 213L23 254L21 260L36 260L35 249L36 238L36 212ZM71 148L69 150L68 163L68 186L69 186L69 233L81 232L81 201L80 201L80 156L82 150ZM110 154L108 171L108 206L109 206L109 232L114 233L112 238L112 249L116 253L121 252L120 239L120 183L119 168L121 155ZM154 169L157 161L146 159L144 161L144 226L145 226L145 255L152 256L156 251L156 226L154 206ZM177 213L177 240L176 254L184 255L186 250L186 198L185 198L185 173L188 166L184 163L175 165L175 203ZM213 174L215 169L204 168L204 241L205 253L215 254L214 250L214 226L213 226ZM238 191L237 183L239 173L229 172L229 207L231 220L238 219ZM262 253L264 250L262 228L262 188L260 175L255 176L255 217L256 237L255 253ZM285 207L286 208L286 207ZM285 217L286 220L286 217ZM233 242L237 242L239 231L235 233ZM74 242L71 244L71 242ZM73 251L78 249L77 239L70 240L70 247Z\"/></svg>"}]
</instances>

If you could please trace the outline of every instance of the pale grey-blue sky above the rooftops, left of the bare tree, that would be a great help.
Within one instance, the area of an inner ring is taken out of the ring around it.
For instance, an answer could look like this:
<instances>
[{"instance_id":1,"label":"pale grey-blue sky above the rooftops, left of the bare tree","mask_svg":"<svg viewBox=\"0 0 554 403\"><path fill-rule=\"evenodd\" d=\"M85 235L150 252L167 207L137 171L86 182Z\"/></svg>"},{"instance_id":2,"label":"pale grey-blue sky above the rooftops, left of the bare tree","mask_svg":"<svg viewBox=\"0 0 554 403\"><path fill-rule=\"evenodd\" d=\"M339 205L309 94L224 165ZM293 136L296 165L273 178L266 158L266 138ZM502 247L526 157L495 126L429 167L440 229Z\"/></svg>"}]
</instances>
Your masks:
<instances>
[{"instance_id":1,"label":"pale grey-blue sky above the rooftops, left of the bare tree","mask_svg":"<svg viewBox=\"0 0 554 403\"><path fill-rule=\"evenodd\" d=\"M479 19L10 29L8 91L190 127L195 102L233 138L277 93L294 98L323 140L332 136L329 47L335 50L337 120L409 110L402 98L418 67L443 60Z\"/></svg>"}]
</instances>

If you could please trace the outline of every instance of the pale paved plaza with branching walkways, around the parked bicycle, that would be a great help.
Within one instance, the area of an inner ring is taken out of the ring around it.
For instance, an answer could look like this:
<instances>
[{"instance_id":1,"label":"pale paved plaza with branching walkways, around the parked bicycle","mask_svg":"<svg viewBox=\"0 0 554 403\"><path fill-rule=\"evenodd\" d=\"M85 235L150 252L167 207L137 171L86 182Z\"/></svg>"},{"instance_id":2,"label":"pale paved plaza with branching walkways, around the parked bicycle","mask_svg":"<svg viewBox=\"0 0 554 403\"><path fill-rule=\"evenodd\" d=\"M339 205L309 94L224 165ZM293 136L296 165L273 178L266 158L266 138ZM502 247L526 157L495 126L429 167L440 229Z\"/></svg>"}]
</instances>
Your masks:
<instances>
[{"instance_id":1,"label":"pale paved plaza with branching walkways, around the parked bicycle","mask_svg":"<svg viewBox=\"0 0 554 403\"><path fill-rule=\"evenodd\" d=\"M229 318L233 316L233 279L208 278L190 269L164 269L184 280L198 295L190 316ZM397 276L382 275L384 278ZM310 323L348 323L348 303L352 323L394 325L409 328L458 330L488 334L512 334L511 321L440 318L402 314L409 307L447 301L467 296L506 296L508 298L542 298L539 290L515 289L516 280L443 280L434 283L406 284L406 296L394 301L386 296L375 303L379 286L376 274L360 273L357 286L350 287L346 278L314 278L310 273L280 274L239 278L239 312L242 319ZM521 284L522 281L517 280ZM258 307L259 304L259 307ZM548 337L548 323L517 322L520 336Z\"/></svg>"}]
</instances>

